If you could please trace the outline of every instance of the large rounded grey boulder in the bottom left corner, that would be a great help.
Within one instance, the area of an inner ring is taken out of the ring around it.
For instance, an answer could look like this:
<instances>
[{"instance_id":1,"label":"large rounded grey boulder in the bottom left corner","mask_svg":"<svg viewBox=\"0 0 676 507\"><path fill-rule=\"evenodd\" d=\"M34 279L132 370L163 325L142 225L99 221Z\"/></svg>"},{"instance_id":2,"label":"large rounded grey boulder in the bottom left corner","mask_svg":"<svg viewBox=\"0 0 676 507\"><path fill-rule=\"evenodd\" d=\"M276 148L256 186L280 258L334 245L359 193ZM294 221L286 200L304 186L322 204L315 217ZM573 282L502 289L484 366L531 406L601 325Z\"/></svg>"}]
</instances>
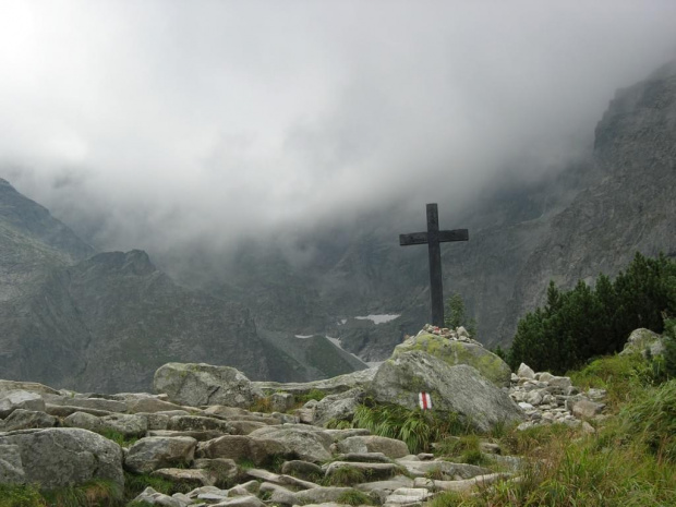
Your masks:
<instances>
[{"instance_id":1,"label":"large rounded grey boulder in the bottom left corner","mask_svg":"<svg viewBox=\"0 0 676 507\"><path fill-rule=\"evenodd\" d=\"M16 446L27 483L52 490L106 479L124 486L122 449L96 433L74 427L0 434L0 446Z\"/></svg>"}]
</instances>

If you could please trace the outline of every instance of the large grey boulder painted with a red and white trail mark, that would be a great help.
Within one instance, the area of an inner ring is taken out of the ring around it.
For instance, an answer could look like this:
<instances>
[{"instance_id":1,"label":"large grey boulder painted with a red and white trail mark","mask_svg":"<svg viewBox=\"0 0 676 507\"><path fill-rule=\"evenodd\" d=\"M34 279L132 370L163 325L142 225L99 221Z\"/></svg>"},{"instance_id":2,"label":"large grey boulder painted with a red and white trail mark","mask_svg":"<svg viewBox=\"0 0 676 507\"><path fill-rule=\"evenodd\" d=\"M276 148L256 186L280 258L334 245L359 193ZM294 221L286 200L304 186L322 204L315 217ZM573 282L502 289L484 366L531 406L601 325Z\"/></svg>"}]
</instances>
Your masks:
<instances>
[{"instance_id":1,"label":"large grey boulder painted with a red and white trail mark","mask_svg":"<svg viewBox=\"0 0 676 507\"><path fill-rule=\"evenodd\" d=\"M418 407L419 393L428 393L437 412L455 412L479 431L523 420L509 395L467 364L451 366L422 351L399 352L385 361L371 385L377 402Z\"/></svg>"}]
</instances>

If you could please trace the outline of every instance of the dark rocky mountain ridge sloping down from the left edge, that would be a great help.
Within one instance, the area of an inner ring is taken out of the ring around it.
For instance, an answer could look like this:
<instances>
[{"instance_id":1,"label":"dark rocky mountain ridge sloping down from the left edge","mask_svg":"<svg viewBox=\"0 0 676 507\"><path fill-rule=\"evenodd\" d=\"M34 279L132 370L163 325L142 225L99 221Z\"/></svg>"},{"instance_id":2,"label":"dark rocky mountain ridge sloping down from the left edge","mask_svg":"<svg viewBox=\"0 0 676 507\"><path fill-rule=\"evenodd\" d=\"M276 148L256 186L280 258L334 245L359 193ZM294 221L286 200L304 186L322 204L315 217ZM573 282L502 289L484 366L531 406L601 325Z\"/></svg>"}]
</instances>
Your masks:
<instances>
[{"instance_id":1,"label":"dark rocky mountain ridge sloping down from the left edge","mask_svg":"<svg viewBox=\"0 0 676 507\"><path fill-rule=\"evenodd\" d=\"M95 253L4 180L0 281L5 378L112 393L147 389L179 358L276 381L365 367L325 337L262 338L248 309L178 286L143 251Z\"/></svg>"}]
</instances>

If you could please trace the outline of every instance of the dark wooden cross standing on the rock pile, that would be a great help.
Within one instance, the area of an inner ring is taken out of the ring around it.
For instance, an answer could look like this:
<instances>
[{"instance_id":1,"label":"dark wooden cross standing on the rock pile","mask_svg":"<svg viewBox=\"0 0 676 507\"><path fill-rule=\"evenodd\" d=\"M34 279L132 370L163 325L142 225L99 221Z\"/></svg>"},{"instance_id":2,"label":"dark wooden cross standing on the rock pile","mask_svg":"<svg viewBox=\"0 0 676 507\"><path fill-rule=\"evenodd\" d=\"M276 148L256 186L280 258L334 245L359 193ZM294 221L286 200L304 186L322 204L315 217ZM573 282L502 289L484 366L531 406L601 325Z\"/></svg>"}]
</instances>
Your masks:
<instances>
[{"instance_id":1,"label":"dark wooden cross standing on the rock pile","mask_svg":"<svg viewBox=\"0 0 676 507\"><path fill-rule=\"evenodd\" d=\"M432 325L444 327L444 288L442 283L442 249L439 243L468 241L467 229L439 230L439 213L436 203L427 204L427 232L399 234L399 244L425 244L430 253L430 295L432 298Z\"/></svg>"}]
</instances>

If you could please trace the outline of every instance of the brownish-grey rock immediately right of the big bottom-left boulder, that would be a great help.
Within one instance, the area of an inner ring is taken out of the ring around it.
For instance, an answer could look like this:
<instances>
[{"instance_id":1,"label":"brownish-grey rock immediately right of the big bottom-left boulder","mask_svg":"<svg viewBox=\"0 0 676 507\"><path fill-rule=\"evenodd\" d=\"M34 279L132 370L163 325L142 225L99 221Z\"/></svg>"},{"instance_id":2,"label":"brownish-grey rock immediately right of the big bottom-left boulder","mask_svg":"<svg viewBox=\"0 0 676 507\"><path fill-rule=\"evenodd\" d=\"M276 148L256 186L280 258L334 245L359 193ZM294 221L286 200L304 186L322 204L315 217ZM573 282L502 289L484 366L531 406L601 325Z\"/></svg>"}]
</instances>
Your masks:
<instances>
[{"instance_id":1,"label":"brownish-grey rock immediately right of the big bottom-left boulder","mask_svg":"<svg viewBox=\"0 0 676 507\"><path fill-rule=\"evenodd\" d=\"M186 436L141 438L129 449L124 467L134 473L149 473L160 468L190 464L196 446L197 440Z\"/></svg>"}]
</instances>

